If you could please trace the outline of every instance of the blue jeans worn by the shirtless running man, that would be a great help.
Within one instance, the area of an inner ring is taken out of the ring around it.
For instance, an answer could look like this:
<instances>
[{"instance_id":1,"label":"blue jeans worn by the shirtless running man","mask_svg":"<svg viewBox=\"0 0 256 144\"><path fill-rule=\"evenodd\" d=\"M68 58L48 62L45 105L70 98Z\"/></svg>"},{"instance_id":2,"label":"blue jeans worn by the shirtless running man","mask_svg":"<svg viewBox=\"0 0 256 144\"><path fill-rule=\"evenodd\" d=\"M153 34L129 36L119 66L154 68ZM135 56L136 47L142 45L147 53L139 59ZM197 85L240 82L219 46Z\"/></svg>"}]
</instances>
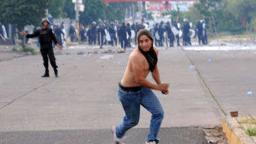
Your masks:
<instances>
[{"instance_id":1,"label":"blue jeans worn by the shirtless running man","mask_svg":"<svg viewBox=\"0 0 256 144\"><path fill-rule=\"evenodd\" d=\"M156 141L161 122L164 117L163 108L156 95L149 88L142 87L138 92L127 92L118 88L118 96L125 111L125 116L120 124L116 127L116 136L122 138L125 131L134 127L140 120L140 105L147 109L151 116L150 132L147 141Z\"/></svg>"}]
</instances>

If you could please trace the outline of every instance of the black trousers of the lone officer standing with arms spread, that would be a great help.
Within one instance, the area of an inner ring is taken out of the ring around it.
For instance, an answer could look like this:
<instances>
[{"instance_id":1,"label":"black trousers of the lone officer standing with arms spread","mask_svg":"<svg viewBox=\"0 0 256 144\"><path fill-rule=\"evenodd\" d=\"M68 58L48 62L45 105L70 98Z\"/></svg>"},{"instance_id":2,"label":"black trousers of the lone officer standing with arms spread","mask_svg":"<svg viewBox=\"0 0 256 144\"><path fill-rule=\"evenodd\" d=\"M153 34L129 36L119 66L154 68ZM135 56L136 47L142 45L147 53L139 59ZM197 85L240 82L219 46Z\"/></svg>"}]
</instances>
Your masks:
<instances>
[{"instance_id":1,"label":"black trousers of the lone officer standing with arms spread","mask_svg":"<svg viewBox=\"0 0 256 144\"><path fill-rule=\"evenodd\" d=\"M53 52L52 48L40 49L40 52L41 52L43 60L44 60L44 67L45 67L46 71L49 71L48 57L49 57L51 65L52 65L52 68L54 68L54 69L58 68L58 66L56 65L56 62L55 62L56 59L55 59L54 52Z\"/></svg>"}]
</instances>

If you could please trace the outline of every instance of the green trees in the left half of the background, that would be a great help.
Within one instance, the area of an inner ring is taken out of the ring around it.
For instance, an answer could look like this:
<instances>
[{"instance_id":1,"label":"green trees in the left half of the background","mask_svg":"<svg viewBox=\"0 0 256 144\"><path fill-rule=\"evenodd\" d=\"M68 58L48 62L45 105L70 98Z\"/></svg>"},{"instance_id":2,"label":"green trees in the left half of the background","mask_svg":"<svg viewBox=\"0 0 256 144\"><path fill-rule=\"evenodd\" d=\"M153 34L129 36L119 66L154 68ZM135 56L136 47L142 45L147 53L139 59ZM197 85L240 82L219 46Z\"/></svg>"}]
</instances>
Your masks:
<instances>
[{"instance_id":1,"label":"green trees in the left half of the background","mask_svg":"<svg viewBox=\"0 0 256 144\"><path fill-rule=\"evenodd\" d=\"M109 3L102 0L83 0L84 12L79 12L79 22L84 26L93 21L124 20L125 8L136 3ZM1 0L0 23L13 24L18 29L28 24L38 26L48 10L54 18L75 19L75 4L72 0Z\"/></svg>"}]
</instances>

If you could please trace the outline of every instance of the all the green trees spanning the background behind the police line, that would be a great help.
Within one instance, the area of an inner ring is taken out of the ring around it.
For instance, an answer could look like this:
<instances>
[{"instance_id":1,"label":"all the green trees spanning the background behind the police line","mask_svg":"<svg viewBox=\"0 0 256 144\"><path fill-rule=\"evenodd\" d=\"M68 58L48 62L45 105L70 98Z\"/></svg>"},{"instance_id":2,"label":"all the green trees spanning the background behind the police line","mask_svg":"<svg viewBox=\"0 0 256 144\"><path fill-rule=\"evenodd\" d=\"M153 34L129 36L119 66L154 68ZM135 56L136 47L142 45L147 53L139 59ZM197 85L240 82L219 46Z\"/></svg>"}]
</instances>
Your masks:
<instances>
[{"instance_id":1,"label":"all the green trees spanning the background behind the police line","mask_svg":"<svg viewBox=\"0 0 256 144\"><path fill-rule=\"evenodd\" d=\"M83 4L84 12L79 12L79 22L84 26L99 19L123 21L125 8L131 4L136 6L136 3L106 4L102 0L83 0ZM136 8L138 10L138 6ZM18 29L28 24L38 26L40 20L45 17L46 9L54 18L75 19L76 12L72 0L1 0L0 22L13 24ZM235 33L250 30L253 26L256 28L255 12L255 0L200 0L200 3L194 4L188 12L180 12L178 8L163 15L172 15L173 20L177 17L180 20L186 18L194 24L197 20L214 17L214 26L218 31ZM210 19L205 19L205 22L209 25Z\"/></svg>"}]
</instances>

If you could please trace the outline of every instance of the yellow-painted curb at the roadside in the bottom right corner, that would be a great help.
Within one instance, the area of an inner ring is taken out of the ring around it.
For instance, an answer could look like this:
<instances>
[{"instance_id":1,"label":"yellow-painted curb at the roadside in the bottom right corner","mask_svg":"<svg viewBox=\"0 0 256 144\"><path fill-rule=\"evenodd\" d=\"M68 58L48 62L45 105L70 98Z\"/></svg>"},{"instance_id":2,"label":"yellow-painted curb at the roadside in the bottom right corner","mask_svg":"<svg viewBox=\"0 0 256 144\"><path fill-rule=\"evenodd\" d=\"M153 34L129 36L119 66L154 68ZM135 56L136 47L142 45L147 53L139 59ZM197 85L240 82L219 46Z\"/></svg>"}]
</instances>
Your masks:
<instances>
[{"instance_id":1,"label":"yellow-painted curb at the roadside in the bottom right corner","mask_svg":"<svg viewBox=\"0 0 256 144\"><path fill-rule=\"evenodd\" d=\"M249 136L246 134L246 129L252 127L252 125L255 127L256 124L250 124L250 126L248 126L248 124L240 124L240 120L243 120L244 118L246 118L246 116L227 116L222 120L223 132L225 132L229 144L256 144L256 136Z\"/></svg>"}]
</instances>

